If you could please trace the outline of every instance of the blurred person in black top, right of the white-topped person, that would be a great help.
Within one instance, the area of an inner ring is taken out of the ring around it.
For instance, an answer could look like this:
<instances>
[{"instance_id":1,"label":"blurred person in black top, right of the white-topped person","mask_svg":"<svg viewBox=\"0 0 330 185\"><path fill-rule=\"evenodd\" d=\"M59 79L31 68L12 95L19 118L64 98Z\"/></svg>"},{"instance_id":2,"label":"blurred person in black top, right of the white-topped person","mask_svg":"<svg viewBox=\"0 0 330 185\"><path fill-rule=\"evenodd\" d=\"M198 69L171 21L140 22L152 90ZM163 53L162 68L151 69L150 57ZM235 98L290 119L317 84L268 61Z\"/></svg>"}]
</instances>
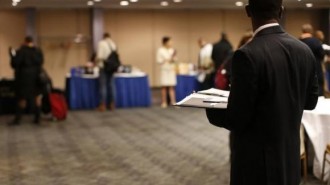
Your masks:
<instances>
[{"instance_id":1,"label":"blurred person in black top, right of the white-topped person","mask_svg":"<svg viewBox=\"0 0 330 185\"><path fill-rule=\"evenodd\" d=\"M228 55L233 52L233 46L227 39L227 34L222 33L219 42L213 45L211 58L214 62L214 69L217 71L221 64L227 59Z\"/></svg>"}]
</instances>

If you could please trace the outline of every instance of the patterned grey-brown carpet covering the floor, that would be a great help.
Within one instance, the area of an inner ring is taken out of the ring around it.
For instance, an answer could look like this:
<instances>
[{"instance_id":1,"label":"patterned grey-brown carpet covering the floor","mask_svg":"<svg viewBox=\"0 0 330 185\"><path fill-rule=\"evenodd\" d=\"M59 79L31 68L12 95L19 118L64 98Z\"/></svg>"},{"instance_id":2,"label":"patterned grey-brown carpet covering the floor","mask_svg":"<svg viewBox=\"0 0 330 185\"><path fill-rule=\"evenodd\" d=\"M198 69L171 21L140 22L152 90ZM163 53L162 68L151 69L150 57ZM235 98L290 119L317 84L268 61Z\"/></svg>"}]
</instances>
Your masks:
<instances>
[{"instance_id":1,"label":"patterned grey-brown carpet covering the floor","mask_svg":"<svg viewBox=\"0 0 330 185\"><path fill-rule=\"evenodd\" d=\"M7 127L11 118L0 117L0 185L229 184L228 132L199 109L77 111Z\"/></svg>"}]
</instances>

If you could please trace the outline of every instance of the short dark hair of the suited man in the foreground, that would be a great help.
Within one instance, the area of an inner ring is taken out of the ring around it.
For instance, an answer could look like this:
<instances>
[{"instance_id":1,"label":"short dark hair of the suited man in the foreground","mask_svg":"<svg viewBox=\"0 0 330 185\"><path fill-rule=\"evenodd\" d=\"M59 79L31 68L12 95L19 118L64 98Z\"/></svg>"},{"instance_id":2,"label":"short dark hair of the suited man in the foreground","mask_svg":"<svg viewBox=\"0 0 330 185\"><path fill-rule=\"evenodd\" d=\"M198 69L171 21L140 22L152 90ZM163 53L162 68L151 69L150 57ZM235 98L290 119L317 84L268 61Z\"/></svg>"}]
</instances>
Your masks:
<instances>
[{"instance_id":1,"label":"short dark hair of the suited man in the foreground","mask_svg":"<svg viewBox=\"0 0 330 185\"><path fill-rule=\"evenodd\" d=\"M252 14L260 19L278 19L283 0L249 0Z\"/></svg>"}]
</instances>

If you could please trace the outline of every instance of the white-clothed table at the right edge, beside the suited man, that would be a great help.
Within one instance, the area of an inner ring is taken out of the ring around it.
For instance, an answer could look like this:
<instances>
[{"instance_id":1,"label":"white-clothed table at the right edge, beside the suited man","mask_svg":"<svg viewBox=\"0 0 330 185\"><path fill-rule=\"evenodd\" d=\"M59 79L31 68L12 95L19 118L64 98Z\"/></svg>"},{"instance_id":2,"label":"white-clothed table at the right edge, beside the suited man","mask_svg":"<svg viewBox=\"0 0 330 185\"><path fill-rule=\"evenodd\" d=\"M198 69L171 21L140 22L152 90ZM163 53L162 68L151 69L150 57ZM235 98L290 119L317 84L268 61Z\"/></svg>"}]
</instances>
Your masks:
<instances>
[{"instance_id":1,"label":"white-clothed table at the right edge, beside the suited man","mask_svg":"<svg viewBox=\"0 0 330 185\"><path fill-rule=\"evenodd\" d=\"M314 175L321 178L324 151L327 144L330 143L330 99L320 97L314 110L304 111L302 124L315 152ZM330 165L326 164L325 166L325 179L328 179Z\"/></svg>"}]
</instances>

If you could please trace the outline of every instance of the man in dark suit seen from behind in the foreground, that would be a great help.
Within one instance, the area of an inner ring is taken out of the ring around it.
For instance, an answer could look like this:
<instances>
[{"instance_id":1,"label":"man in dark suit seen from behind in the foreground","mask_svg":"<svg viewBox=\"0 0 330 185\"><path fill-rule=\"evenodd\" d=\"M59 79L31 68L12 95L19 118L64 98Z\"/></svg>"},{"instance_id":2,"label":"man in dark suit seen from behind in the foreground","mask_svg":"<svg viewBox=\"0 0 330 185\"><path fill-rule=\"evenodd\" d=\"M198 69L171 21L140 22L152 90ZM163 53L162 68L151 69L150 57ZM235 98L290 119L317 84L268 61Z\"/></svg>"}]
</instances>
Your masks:
<instances>
[{"instance_id":1,"label":"man in dark suit seen from behind in the foreground","mask_svg":"<svg viewBox=\"0 0 330 185\"><path fill-rule=\"evenodd\" d=\"M226 110L210 123L233 134L231 185L298 185L300 124L318 100L315 57L278 24L282 0L249 0L254 38L232 62Z\"/></svg>"}]
</instances>

